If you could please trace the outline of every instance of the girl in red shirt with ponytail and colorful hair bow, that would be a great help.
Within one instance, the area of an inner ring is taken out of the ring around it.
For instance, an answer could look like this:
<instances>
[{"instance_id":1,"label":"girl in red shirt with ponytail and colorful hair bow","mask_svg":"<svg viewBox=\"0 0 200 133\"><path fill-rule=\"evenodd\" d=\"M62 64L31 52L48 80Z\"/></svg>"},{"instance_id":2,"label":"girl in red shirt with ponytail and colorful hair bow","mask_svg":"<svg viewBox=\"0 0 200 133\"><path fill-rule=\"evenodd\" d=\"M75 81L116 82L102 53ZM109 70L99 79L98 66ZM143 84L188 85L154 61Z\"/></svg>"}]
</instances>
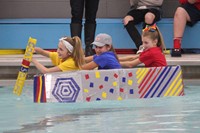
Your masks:
<instances>
[{"instance_id":1,"label":"girl in red shirt with ponytail and colorful hair bow","mask_svg":"<svg viewBox=\"0 0 200 133\"><path fill-rule=\"evenodd\" d=\"M159 28L154 25L146 25L142 31L142 42L144 51L140 54L120 57L122 68L133 68L143 63L145 67L167 66L163 50L165 43Z\"/></svg>"}]
</instances>

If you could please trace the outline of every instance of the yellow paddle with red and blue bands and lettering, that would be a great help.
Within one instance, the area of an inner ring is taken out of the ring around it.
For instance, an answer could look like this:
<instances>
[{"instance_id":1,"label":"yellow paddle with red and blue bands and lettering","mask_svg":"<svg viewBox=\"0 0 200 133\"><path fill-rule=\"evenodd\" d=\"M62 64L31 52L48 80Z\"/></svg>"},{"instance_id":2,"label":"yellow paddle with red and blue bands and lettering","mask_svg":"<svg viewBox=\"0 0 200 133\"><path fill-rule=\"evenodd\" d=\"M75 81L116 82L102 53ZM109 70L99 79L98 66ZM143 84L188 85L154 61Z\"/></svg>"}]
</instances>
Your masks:
<instances>
[{"instance_id":1,"label":"yellow paddle with red and blue bands and lettering","mask_svg":"<svg viewBox=\"0 0 200 133\"><path fill-rule=\"evenodd\" d=\"M32 60L33 52L34 52L34 47L36 45L37 40L34 38L29 38L28 44L26 46L26 51L24 53L24 57L22 60L22 66L20 68L20 71L18 73L17 81L15 83L13 93L16 95L21 95L22 89L24 86L24 82L26 80L26 75L28 73L28 69L30 66L30 62Z\"/></svg>"}]
</instances>

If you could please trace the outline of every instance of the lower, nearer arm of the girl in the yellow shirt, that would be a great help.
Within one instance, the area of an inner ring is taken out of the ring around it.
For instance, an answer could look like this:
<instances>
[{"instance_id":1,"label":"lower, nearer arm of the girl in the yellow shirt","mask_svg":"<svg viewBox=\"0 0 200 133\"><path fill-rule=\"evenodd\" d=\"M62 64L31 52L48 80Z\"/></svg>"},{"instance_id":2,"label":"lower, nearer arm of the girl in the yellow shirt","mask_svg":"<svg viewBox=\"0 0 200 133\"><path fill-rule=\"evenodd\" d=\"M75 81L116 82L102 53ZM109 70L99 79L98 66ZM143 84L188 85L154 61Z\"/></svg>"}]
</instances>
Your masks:
<instances>
[{"instance_id":1,"label":"lower, nearer arm of the girl in the yellow shirt","mask_svg":"<svg viewBox=\"0 0 200 133\"><path fill-rule=\"evenodd\" d=\"M43 74L50 73L50 72L60 72L61 69L58 66L47 68L43 66L41 63L39 63L36 59L32 59L33 64L35 67Z\"/></svg>"}]
</instances>

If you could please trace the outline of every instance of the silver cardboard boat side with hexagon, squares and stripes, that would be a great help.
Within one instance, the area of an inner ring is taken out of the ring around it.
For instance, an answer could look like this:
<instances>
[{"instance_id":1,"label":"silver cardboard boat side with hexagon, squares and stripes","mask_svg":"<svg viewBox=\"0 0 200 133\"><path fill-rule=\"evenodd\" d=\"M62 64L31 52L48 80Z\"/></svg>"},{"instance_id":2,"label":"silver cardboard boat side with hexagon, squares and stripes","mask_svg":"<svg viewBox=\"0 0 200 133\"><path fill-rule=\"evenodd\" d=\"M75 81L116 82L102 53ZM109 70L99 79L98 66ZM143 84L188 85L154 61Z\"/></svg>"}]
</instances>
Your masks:
<instances>
[{"instance_id":1,"label":"silver cardboard boat side with hexagon, squares and stripes","mask_svg":"<svg viewBox=\"0 0 200 133\"><path fill-rule=\"evenodd\" d=\"M34 77L34 102L91 102L183 96L180 66L81 70Z\"/></svg>"}]
</instances>

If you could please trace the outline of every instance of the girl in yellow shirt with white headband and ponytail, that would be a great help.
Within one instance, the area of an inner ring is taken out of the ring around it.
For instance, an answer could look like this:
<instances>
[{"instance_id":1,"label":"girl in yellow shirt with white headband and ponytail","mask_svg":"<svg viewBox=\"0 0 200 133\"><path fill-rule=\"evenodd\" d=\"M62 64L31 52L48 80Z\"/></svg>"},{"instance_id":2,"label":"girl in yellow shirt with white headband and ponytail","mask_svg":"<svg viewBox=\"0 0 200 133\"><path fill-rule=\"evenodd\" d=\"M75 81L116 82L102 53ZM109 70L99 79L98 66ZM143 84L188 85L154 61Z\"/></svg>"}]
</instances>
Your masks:
<instances>
[{"instance_id":1,"label":"girl in yellow shirt with white headband and ponytail","mask_svg":"<svg viewBox=\"0 0 200 133\"><path fill-rule=\"evenodd\" d=\"M43 74L50 72L80 70L81 66L84 64L84 52L81 40L78 36L73 38L60 38L56 52L50 52L39 47L35 48L35 52L50 58L52 64L54 65L51 68L47 68L33 58L33 64Z\"/></svg>"}]
</instances>

